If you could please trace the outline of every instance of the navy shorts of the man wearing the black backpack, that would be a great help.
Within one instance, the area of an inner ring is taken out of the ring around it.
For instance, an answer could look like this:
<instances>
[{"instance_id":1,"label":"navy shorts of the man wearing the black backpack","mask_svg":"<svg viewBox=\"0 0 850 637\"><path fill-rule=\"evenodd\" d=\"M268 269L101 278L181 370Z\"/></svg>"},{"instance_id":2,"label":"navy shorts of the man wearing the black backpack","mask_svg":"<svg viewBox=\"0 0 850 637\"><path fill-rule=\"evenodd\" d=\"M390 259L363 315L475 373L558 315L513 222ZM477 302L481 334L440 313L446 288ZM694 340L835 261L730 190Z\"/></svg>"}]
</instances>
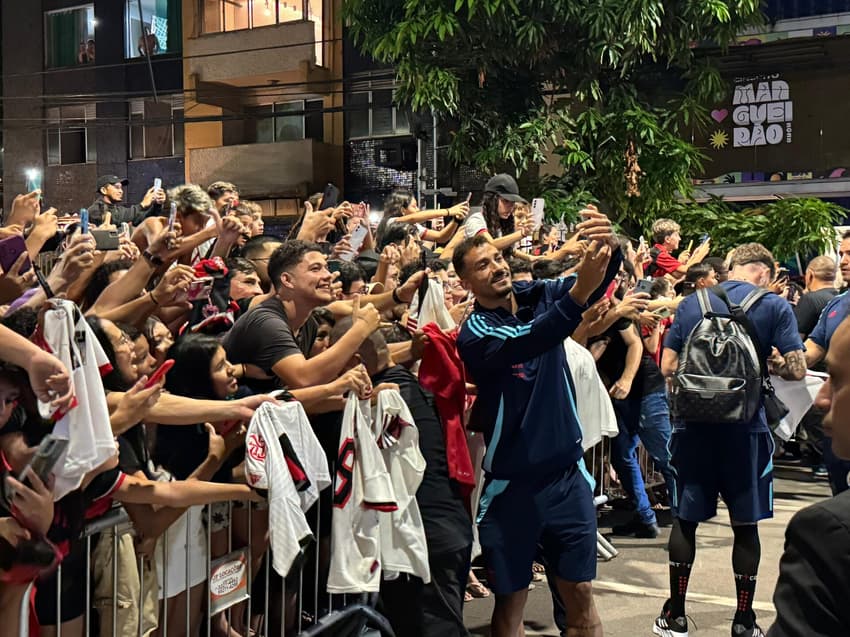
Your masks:
<instances>
[{"instance_id":1,"label":"navy shorts of the man wearing the black backpack","mask_svg":"<svg viewBox=\"0 0 850 637\"><path fill-rule=\"evenodd\" d=\"M723 498L735 522L773 517L773 436L730 427L676 430L670 463L676 473L679 517L702 522L717 515Z\"/></svg>"}]
</instances>

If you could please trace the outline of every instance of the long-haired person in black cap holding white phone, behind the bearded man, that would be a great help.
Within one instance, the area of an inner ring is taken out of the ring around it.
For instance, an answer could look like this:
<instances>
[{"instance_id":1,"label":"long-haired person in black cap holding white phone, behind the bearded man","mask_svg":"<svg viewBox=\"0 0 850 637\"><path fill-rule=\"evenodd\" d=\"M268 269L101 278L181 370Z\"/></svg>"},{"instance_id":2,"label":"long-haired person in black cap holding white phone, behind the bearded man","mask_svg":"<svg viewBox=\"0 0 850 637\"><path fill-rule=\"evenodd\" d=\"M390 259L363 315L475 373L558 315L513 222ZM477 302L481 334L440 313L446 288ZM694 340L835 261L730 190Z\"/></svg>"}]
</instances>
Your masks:
<instances>
[{"instance_id":1,"label":"long-haired person in black cap holding white phone, behind the bearded man","mask_svg":"<svg viewBox=\"0 0 850 637\"><path fill-rule=\"evenodd\" d=\"M466 237L484 234L499 250L509 250L534 230L531 219L514 219L514 206L518 203L528 202L520 196L514 178L506 173L496 175L484 186L481 212L466 219Z\"/></svg>"}]
</instances>

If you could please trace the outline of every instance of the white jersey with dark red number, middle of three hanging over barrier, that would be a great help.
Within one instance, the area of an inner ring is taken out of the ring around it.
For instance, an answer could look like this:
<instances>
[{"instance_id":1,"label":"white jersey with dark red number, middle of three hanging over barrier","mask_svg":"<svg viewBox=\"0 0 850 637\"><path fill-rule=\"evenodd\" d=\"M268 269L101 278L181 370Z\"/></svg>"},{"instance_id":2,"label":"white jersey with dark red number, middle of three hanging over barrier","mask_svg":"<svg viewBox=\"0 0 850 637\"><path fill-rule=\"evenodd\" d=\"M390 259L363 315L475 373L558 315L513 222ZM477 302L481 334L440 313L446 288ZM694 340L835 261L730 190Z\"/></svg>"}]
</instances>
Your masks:
<instances>
[{"instance_id":1,"label":"white jersey with dark red number, middle of three hanging over barrier","mask_svg":"<svg viewBox=\"0 0 850 637\"><path fill-rule=\"evenodd\" d=\"M334 476L329 593L374 593L381 586L379 512L398 506L371 420L369 401L350 394Z\"/></svg>"}]
</instances>

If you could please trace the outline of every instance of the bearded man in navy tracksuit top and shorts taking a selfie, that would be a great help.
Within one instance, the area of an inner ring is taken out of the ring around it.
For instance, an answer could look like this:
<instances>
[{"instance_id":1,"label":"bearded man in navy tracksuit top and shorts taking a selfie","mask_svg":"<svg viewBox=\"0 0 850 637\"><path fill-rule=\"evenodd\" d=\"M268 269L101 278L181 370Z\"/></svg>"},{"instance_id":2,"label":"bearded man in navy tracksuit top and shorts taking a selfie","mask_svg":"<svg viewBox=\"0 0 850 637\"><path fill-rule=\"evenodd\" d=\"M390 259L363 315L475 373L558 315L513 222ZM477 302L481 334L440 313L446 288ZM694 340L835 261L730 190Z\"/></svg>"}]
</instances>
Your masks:
<instances>
[{"instance_id":1,"label":"bearded man in navy tracksuit top and shorts taking a selfie","mask_svg":"<svg viewBox=\"0 0 850 637\"><path fill-rule=\"evenodd\" d=\"M496 594L495 637L520 631L538 544L567 609L568 637L602 635L591 585L596 511L563 342L602 297L622 254L605 215L588 209L582 216L577 230L590 245L577 277L513 285L484 234L453 255L476 297L458 351L478 387L487 442L478 530Z\"/></svg>"}]
</instances>

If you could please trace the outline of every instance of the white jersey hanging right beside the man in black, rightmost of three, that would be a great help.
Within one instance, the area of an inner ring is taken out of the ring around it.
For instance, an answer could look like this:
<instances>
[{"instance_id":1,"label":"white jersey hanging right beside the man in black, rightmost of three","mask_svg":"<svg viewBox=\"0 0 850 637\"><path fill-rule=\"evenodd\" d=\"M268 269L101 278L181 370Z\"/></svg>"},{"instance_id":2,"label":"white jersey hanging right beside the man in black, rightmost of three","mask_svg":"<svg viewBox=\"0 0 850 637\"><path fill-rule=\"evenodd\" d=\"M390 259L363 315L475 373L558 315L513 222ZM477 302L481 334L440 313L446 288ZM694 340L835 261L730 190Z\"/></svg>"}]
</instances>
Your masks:
<instances>
[{"instance_id":1,"label":"white jersey hanging right beside the man in black, rightmost of three","mask_svg":"<svg viewBox=\"0 0 850 637\"><path fill-rule=\"evenodd\" d=\"M410 573L426 584L431 581L428 545L416 491L425 474L425 458L419 450L419 430L401 394L378 393L372 432L393 484L398 508L380 514L381 558L384 577Z\"/></svg>"}]
</instances>

